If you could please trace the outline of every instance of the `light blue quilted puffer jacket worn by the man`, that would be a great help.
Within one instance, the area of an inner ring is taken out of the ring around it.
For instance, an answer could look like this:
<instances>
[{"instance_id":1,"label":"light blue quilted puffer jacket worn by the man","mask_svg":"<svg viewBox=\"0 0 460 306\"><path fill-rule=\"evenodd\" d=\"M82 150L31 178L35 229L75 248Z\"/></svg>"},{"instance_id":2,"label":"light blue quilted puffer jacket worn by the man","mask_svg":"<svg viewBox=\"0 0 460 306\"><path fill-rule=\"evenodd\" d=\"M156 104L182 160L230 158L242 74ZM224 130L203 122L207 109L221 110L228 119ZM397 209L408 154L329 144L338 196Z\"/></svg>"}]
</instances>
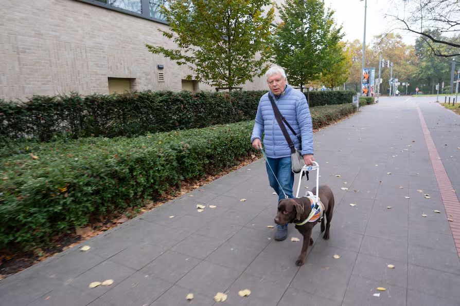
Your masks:
<instances>
[{"instance_id":1,"label":"light blue quilted puffer jacket worn by the man","mask_svg":"<svg viewBox=\"0 0 460 306\"><path fill-rule=\"evenodd\" d=\"M276 121L275 113L268 97L269 94L274 98L282 116L286 118L297 134L300 132L300 135L302 135L301 154L313 154L313 128L307 99L305 98L305 94L289 85L281 93L278 100L271 91L260 98L251 142L256 138L262 139L262 133L265 132L263 147L268 157L281 158L291 156L291 149ZM291 136L294 146L298 148L297 137L293 135L288 127L286 129Z\"/></svg>"}]
</instances>

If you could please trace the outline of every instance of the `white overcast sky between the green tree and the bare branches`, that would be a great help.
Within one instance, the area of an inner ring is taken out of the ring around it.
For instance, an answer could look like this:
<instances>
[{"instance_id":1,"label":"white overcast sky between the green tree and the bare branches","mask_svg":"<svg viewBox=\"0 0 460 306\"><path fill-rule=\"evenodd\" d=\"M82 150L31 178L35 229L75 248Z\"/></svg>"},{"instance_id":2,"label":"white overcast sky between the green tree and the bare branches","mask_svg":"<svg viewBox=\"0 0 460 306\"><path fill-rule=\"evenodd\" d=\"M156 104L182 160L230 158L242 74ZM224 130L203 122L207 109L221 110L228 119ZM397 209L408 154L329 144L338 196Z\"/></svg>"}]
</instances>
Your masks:
<instances>
[{"instance_id":1,"label":"white overcast sky between the green tree and the bare branches","mask_svg":"<svg viewBox=\"0 0 460 306\"><path fill-rule=\"evenodd\" d=\"M390 17L384 18L385 13L397 9L392 8L391 3L392 1L388 0L367 0L366 44L372 40L374 35L391 29ZM343 25L344 40L353 41L359 39L361 42L363 41L364 1L324 0L324 4L326 7L331 7L335 10L335 21ZM413 34L402 31L399 31L399 33L402 35L405 44L415 44L416 37Z\"/></svg>"}]
</instances>

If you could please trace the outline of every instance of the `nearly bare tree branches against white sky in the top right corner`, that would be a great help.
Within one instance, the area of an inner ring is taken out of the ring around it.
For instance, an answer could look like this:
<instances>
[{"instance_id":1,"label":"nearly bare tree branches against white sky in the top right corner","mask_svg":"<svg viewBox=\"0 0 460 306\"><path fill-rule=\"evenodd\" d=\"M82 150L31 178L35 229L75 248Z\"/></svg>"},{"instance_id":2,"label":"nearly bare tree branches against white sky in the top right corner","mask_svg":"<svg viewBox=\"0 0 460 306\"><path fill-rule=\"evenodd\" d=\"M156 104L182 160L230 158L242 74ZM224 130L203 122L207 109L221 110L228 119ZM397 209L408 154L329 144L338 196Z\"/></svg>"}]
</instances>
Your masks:
<instances>
[{"instance_id":1,"label":"nearly bare tree branches against white sky in the top right corner","mask_svg":"<svg viewBox=\"0 0 460 306\"><path fill-rule=\"evenodd\" d=\"M394 7L403 5L402 16L387 15L402 26L400 29L420 35L436 56L460 55L460 0L398 0L395 3ZM433 30L440 35L433 35ZM451 48L444 49L444 46Z\"/></svg>"}]
</instances>

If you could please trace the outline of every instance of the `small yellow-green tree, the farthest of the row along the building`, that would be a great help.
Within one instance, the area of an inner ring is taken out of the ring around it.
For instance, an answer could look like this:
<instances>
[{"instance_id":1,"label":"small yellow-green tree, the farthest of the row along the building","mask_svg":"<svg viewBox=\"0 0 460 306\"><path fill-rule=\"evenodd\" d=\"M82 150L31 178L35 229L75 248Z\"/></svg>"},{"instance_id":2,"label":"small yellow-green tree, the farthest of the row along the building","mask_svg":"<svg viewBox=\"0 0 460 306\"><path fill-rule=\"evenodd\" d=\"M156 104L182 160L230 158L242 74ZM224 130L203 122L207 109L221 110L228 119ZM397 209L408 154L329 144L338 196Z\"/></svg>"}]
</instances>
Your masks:
<instances>
[{"instance_id":1,"label":"small yellow-green tree, the farthest of the row along the building","mask_svg":"<svg viewBox=\"0 0 460 306\"><path fill-rule=\"evenodd\" d=\"M351 69L351 54L345 43L339 42L329 48L327 62L328 65L323 69L320 81L331 89L344 84L348 80Z\"/></svg>"}]
</instances>

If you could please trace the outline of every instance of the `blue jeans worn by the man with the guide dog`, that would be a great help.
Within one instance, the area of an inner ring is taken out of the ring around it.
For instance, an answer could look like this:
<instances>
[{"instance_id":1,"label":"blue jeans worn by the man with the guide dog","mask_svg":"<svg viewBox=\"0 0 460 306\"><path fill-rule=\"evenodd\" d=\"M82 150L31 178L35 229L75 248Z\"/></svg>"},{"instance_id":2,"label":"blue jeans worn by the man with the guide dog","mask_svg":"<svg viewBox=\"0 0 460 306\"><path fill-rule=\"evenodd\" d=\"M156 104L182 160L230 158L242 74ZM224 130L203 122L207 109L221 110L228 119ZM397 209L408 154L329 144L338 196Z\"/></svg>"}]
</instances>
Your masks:
<instances>
[{"instance_id":1,"label":"blue jeans worn by the man with the guide dog","mask_svg":"<svg viewBox=\"0 0 460 306\"><path fill-rule=\"evenodd\" d=\"M270 170L270 167L272 170ZM267 173L269 176L270 186L275 189L276 194L278 195L278 201L285 198L285 195L282 193L282 190L279 186L281 185L282 189L289 198L292 198L292 187L294 185L294 174L291 170L291 157L282 157L282 158L269 158L267 157L267 162L265 163L267 167ZM276 181L276 178L279 181Z\"/></svg>"}]
</instances>

